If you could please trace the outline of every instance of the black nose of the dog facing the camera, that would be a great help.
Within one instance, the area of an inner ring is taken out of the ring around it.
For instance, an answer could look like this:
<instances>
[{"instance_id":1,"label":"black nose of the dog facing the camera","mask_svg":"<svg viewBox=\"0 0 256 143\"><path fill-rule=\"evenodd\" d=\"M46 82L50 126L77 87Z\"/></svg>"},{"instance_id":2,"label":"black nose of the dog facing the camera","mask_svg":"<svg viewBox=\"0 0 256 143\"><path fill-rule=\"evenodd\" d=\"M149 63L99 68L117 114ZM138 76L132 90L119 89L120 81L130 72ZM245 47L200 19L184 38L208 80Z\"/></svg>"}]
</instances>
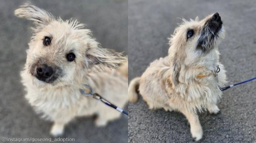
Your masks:
<instances>
[{"instance_id":1,"label":"black nose of the dog facing the camera","mask_svg":"<svg viewBox=\"0 0 256 143\"><path fill-rule=\"evenodd\" d=\"M52 76L53 69L47 65L40 65L36 68L36 73L40 78L46 79Z\"/></svg>"}]
</instances>

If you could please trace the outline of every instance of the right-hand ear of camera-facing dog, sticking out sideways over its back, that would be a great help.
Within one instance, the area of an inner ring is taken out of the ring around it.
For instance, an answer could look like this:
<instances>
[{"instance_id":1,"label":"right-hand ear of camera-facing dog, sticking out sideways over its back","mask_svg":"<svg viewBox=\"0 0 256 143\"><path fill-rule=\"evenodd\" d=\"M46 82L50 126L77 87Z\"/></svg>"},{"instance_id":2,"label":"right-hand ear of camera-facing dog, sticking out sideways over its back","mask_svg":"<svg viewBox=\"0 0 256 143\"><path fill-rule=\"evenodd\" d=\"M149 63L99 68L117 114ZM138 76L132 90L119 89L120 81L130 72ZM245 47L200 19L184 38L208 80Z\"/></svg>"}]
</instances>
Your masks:
<instances>
[{"instance_id":1,"label":"right-hand ear of camera-facing dog, sticking out sideways over its back","mask_svg":"<svg viewBox=\"0 0 256 143\"><path fill-rule=\"evenodd\" d=\"M127 57L122 53L118 53L112 49L107 48L90 48L86 52L88 65L100 65L109 68L118 68L121 62L127 60Z\"/></svg>"}]
</instances>

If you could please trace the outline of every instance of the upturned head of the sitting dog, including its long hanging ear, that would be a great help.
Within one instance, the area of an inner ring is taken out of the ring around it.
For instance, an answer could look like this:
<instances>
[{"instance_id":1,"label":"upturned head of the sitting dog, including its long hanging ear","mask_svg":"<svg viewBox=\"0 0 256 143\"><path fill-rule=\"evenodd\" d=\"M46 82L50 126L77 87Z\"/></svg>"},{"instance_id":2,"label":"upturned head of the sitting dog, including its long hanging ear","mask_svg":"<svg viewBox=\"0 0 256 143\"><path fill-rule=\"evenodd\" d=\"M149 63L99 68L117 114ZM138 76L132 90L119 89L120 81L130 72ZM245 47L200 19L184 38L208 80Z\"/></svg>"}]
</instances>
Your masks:
<instances>
[{"instance_id":1,"label":"upturned head of the sitting dog, including its long hanging ear","mask_svg":"<svg viewBox=\"0 0 256 143\"><path fill-rule=\"evenodd\" d=\"M225 30L218 13L206 16L201 21L186 21L175 29L170 39L169 58L172 61L174 85L178 84L180 71L206 62L218 60L218 44Z\"/></svg>"}]
</instances>

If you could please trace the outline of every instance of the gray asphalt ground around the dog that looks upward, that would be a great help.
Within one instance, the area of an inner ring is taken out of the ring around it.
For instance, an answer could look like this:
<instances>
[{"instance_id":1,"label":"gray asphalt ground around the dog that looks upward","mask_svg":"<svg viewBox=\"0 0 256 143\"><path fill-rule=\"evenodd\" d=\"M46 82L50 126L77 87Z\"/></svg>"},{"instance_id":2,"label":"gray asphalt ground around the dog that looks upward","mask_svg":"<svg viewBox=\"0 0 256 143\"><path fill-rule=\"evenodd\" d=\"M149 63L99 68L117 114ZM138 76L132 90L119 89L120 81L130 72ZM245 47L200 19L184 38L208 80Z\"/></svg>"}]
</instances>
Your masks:
<instances>
[{"instance_id":1,"label":"gray asphalt ground around the dog that looks upward","mask_svg":"<svg viewBox=\"0 0 256 143\"><path fill-rule=\"evenodd\" d=\"M140 76L150 62L164 57L168 39L179 18L200 19L218 12L226 36L220 43L220 62L229 83L256 76L256 2L254 0L129 0L129 80ZM179 17L179 18L178 18ZM218 103L221 113L201 113L204 143L256 142L256 82L223 92ZM145 101L128 105L130 143L192 142L185 116L178 112L148 110Z\"/></svg>"}]
</instances>

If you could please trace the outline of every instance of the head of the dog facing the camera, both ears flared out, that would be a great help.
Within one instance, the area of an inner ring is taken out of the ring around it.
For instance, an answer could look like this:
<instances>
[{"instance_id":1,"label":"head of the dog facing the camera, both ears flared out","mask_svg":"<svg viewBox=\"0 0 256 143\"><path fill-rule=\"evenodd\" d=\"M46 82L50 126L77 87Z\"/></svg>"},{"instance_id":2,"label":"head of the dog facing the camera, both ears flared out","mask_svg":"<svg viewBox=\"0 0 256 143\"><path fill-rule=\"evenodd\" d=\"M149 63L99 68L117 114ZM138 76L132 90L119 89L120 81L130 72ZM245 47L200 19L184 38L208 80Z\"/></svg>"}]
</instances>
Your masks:
<instances>
[{"instance_id":1,"label":"head of the dog facing the camera, both ears flared out","mask_svg":"<svg viewBox=\"0 0 256 143\"><path fill-rule=\"evenodd\" d=\"M126 60L121 53L101 48L90 30L77 21L63 21L33 5L21 6L14 13L34 24L25 69L35 83L72 84L94 65L116 68Z\"/></svg>"}]
</instances>

